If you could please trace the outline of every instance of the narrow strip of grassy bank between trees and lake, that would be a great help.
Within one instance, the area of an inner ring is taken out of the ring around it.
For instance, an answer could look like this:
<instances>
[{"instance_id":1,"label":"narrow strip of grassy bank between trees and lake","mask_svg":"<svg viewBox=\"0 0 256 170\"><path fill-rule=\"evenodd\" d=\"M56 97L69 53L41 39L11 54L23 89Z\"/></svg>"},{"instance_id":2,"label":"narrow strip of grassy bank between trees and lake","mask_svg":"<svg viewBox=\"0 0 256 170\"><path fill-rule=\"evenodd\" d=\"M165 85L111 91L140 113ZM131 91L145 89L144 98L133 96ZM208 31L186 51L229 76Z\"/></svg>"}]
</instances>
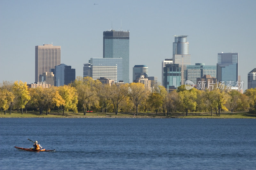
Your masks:
<instances>
[{"instance_id":1,"label":"narrow strip of grassy bank between trees and lake","mask_svg":"<svg viewBox=\"0 0 256 170\"><path fill-rule=\"evenodd\" d=\"M11 115L9 112L4 115L0 112L0 118L134 118L135 113L118 113L117 115L115 113L84 113L78 112L66 112L64 116L62 113L58 113L55 111L50 112L48 115L46 113L43 113L42 115L39 114L37 111L28 111L28 113L23 113L13 111ZM188 113L188 116L185 116L185 113L171 113L169 116L164 116L163 113L138 113L138 115L135 115L135 118L246 118L246 119L256 119L256 114L249 113L249 112L223 112L220 113L220 116L216 116L216 113L213 113L211 116L211 113Z\"/></svg>"}]
</instances>

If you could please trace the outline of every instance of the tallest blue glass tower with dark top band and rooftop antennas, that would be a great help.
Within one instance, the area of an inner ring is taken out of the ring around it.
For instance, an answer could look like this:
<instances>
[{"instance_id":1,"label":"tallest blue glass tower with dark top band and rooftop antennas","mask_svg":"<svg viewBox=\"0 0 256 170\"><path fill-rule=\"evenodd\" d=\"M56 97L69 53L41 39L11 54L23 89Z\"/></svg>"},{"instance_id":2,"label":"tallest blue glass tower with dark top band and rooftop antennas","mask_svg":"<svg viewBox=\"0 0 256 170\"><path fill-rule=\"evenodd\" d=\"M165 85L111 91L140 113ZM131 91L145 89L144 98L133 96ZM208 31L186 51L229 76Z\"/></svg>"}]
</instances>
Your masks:
<instances>
[{"instance_id":1,"label":"tallest blue glass tower with dark top band and rooftop antennas","mask_svg":"<svg viewBox=\"0 0 256 170\"><path fill-rule=\"evenodd\" d=\"M129 83L129 31L103 32L103 58L123 58L123 80Z\"/></svg>"}]
</instances>

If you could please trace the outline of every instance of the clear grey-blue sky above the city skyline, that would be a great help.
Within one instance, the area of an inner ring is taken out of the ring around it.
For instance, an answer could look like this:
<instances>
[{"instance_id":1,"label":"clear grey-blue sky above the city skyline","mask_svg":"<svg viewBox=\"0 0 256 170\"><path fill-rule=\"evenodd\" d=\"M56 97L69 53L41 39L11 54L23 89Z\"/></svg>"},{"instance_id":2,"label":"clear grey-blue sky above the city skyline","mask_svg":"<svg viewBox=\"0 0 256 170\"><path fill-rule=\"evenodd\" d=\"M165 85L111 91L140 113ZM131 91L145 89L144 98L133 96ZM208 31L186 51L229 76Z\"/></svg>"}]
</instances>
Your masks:
<instances>
[{"instance_id":1,"label":"clear grey-blue sky above the city skyline","mask_svg":"<svg viewBox=\"0 0 256 170\"><path fill-rule=\"evenodd\" d=\"M94 5L96 4L96 5ZM35 46L61 46L61 63L83 76L83 64L103 57L103 31L130 31L132 67L147 65L161 82L173 35L188 35L191 65L216 65L218 53L239 53L238 74L256 68L254 0L0 1L0 83L35 82Z\"/></svg>"}]
</instances>

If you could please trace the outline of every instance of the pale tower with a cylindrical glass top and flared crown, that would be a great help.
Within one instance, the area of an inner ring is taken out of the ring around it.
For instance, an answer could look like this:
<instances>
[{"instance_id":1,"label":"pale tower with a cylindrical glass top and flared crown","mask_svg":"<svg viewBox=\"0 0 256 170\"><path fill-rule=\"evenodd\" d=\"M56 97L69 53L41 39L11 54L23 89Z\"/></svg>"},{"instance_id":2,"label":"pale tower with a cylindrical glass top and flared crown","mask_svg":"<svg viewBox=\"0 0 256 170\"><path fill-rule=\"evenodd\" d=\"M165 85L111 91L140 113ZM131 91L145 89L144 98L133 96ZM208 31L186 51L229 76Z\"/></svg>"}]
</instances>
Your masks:
<instances>
[{"instance_id":1,"label":"pale tower with a cylindrical glass top and flared crown","mask_svg":"<svg viewBox=\"0 0 256 170\"><path fill-rule=\"evenodd\" d=\"M184 70L187 69L187 65L191 64L187 36L188 35L174 35L174 42L172 45L173 63L179 64L179 67L181 68L181 85L185 83Z\"/></svg>"}]
</instances>

